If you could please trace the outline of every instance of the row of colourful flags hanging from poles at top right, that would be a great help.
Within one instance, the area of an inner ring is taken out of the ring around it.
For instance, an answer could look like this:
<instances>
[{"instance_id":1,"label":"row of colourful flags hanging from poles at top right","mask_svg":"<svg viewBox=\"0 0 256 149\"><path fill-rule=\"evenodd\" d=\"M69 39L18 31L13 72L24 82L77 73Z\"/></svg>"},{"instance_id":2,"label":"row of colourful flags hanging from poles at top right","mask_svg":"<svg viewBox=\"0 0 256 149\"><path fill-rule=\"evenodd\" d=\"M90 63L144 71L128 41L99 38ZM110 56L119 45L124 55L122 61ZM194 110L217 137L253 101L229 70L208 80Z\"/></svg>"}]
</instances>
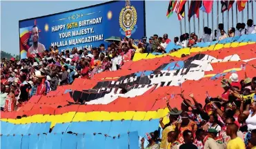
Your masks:
<instances>
[{"instance_id":1,"label":"row of colourful flags hanging from poles at top right","mask_svg":"<svg viewBox=\"0 0 256 149\"><path fill-rule=\"evenodd\" d=\"M246 7L246 2L248 0L236 0L237 2L237 10L240 12L244 10ZM181 20L185 16L185 4L187 0L170 0L168 10L166 13L166 17L170 17L170 15L173 14L173 12L177 13L178 19ZM221 12L225 12L226 10L230 10L232 8L233 3L235 1L232 0L221 0ZM193 17L193 15L196 14L197 18L199 17L199 10L210 13L213 8L213 1L208 0L193 0L190 1L190 7L188 10L188 21L190 21L190 18Z\"/></svg>"}]
</instances>

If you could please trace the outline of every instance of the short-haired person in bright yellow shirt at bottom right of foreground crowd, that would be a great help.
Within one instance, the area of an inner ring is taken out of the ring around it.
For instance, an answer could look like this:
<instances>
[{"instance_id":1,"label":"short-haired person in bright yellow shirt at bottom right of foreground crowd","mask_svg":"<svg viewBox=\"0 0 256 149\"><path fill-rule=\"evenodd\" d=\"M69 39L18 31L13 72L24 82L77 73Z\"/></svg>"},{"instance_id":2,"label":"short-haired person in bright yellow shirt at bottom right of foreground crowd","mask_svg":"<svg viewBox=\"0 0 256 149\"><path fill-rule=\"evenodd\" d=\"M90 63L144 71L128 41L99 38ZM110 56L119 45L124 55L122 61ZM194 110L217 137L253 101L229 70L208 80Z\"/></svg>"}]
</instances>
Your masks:
<instances>
[{"instance_id":1,"label":"short-haired person in bright yellow shirt at bottom right of foreground crowd","mask_svg":"<svg viewBox=\"0 0 256 149\"><path fill-rule=\"evenodd\" d=\"M235 123L228 124L226 128L226 135L230 136L230 141L228 141L227 149L245 149L246 145L242 139L237 137L238 127Z\"/></svg>"}]
</instances>

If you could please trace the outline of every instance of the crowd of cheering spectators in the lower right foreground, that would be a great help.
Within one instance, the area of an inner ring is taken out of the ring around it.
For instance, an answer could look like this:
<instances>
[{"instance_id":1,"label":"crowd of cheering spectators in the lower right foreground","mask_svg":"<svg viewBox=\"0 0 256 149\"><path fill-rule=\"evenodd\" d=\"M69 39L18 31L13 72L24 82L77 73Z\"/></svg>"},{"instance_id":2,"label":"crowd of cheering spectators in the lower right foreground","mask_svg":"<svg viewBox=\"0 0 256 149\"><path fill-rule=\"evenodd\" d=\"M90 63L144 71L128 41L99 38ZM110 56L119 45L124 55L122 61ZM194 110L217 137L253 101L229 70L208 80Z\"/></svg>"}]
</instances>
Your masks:
<instances>
[{"instance_id":1,"label":"crowd of cheering spectators in the lower right foreground","mask_svg":"<svg viewBox=\"0 0 256 149\"><path fill-rule=\"evenodd\" d=\"M183 91L181 110L170 110L169 123L159 120L161 130L150 132L141 139L141 148L148 149L255 149L256 148L256 77L239 81L236 73L222 79L222 95L197 102L193 93L187 99ZM248 95L254 95L253 98ZM161 138L159 137L161 133Z\"/></svg>"}]
</instances>

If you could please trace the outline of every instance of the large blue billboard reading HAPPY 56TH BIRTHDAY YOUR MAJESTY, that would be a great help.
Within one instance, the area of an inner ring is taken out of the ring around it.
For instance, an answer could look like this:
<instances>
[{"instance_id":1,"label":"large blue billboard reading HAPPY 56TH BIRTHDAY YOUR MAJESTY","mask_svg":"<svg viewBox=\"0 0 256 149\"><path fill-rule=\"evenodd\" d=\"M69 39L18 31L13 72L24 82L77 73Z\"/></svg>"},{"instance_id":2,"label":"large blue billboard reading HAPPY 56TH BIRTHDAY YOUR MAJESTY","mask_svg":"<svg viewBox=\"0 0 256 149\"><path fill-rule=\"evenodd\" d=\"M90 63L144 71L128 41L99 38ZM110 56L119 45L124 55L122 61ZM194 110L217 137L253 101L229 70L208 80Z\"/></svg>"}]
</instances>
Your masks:
<instances>
[{"instance_id":1,"label":"large blue billboard reading HAPPY 56TH BIRTHDAY YOUR MAJESTY","mask_svg":"<svg viewBox=\"0 0 256 149\"><path fill-rule=\"evenodd\" d=\"M145 1L110 1L96 6L19 21L21 59L50 46L59 51L98 47L109 37L146 35Z\"/></svg>"}]
</instances>

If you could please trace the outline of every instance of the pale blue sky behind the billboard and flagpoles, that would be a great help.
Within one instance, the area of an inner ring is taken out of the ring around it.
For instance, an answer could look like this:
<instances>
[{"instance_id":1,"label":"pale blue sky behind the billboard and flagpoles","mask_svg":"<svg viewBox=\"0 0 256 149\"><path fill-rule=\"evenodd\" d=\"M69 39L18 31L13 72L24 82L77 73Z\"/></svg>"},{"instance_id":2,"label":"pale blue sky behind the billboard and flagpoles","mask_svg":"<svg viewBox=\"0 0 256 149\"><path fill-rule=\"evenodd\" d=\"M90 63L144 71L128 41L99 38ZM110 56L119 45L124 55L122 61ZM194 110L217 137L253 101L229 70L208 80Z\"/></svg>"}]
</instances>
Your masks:
<instances>
[{"instance_id":1,"label":"pale blue sky behind the billboard and flagpoles","mask_svg":"<svg viewBox=\"0 0 256 149\"><path fill-rule=\"evenodd\" d=\"M47 14L73 10L76 8L83 8L86 6L95 5L97 3L104 3L106 1L1 1L1 50L10 52L11 54L19 54L19 20L28 19L32 17L39 17ZM146 1L146 34L147 37L152 34L167 33L169 38L173 40L174 37L179 37L179 21L177 14L173 14L169 19L166 18L166 10L169 1ZM234 4L235 6L235 4ZM217 26L217 4L216 1L213 6L213 28ZM186 6L188 12L188 6ZM256 3L254 3L254 17L256 17ZM200 12L200 29L203 28L202 12ZM187 15L187 14L186 14ZM206 14L204 15L205 26ZM249 6L249 18L251 18L251 6ZM209 14L209 26L212 28L212 14ZM219 3L219 23L221 23L220 3ZM224 13L224 23L227 22L226 12ZM244 10L244 22L247 20L247 8ZM194 32L193 19L191 19L190 30ZM242 13L238 13L238 21L242 21ZM231 27L231 14L229 27ZM234 22L235 9L234 9ZM184 21L182 21L184 33ZM197 26L197 19L195 19L195 31L199 31ZM227 28L227 26L226 26ZM201 32L200 30L200 32ZM188 32L188 21L186 21L186 32Z\"/></svg>"}]
</instances>

